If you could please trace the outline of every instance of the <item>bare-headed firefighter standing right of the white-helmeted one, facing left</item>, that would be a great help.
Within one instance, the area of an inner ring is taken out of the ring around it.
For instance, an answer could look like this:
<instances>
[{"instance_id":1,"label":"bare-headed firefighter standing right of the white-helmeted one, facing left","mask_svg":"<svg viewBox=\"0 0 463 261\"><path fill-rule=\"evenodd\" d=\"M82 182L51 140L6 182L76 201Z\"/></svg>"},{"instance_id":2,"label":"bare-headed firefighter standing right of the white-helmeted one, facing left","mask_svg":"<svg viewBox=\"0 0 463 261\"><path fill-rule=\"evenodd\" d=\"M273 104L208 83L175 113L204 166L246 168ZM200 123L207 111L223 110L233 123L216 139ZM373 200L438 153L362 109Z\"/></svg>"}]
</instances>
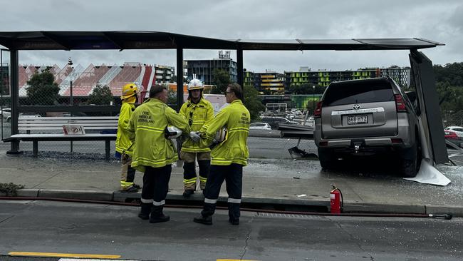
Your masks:
<instances>
[{"instance_id":1,"label":"bare-headed firefighter standing right of the white-helmeted one, facing left","mask_svg":"<svg viewBox=\"0 0 463 261\"><path fill-rule=\"evenodd\" d=\"M199 133L201 146L209 145L211 140L219 142L211 151L212 161L204 189L204 207L201 215L193 220L204 225L212 225L212 215L224 180L229 196L229 222L232 225L239 225L243 166L247 165L249 158L246 141L249 133L250 116L249 111L241 101L243 91L239 84L229 84L225 97L227 103L230 103L229 106L217 113L217 116L209 122L207 130ZM216 137L217 131L224 133L222 132L224 127L227 127L228 130L227 137Z\"/></svg>"}]
</instances>

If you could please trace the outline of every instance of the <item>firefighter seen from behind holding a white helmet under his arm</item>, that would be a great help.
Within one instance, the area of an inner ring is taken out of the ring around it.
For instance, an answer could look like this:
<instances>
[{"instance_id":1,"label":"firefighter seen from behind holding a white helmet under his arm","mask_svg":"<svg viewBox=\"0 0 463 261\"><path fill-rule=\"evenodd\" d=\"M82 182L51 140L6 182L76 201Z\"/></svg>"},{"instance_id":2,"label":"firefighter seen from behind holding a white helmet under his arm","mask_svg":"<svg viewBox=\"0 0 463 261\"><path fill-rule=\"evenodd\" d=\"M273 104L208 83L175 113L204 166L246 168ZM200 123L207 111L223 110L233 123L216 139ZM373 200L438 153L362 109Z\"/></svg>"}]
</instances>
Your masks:
<instances>
[{"instance_id":1,"label":"firefighter seen from behind holding a white helmet under his arm","mask_svg":"<svg viewBox=\"0 0 463 261\"><path fill-rule=\"evenodd\" d=\"M145 173L138 217L142 220L149 219L151 223L170 220L168 215L164 215L163 208L169 189L172 163L178 157L172 140L166 138L166 135L172 135L172 128L167 127L176 126L183 133L189 133L184 116L166 103L167 88L161 85L152 86L150 98L135 109L128 127L135 143L132 168Z\"/></svg>"}]
</instances>

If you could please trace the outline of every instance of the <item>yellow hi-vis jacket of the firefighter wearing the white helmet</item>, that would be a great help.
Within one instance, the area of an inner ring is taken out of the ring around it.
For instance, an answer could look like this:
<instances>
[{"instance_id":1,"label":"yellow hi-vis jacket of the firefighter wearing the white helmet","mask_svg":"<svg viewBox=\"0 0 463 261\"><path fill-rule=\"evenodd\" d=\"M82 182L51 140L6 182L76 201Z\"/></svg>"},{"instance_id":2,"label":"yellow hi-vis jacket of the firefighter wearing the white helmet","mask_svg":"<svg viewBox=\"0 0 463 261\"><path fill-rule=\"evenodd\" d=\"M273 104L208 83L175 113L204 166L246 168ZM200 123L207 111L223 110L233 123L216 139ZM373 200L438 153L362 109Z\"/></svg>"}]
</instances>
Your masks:
<instances>
[{"instance_id":1,"label":"yellow hi-vis jacket of the firefighter wearing the white helmet","mask_svg":"<svg viewBox=\"0 0 463 261\"><path fill-rule=\"evenodd\" d=\"M212 104L201 97L197 104L188 100L180 108L182 114L188 121L191 131L200 131L201 128L207 128L209 121L214 118L214 108ZM200 148L198 143L194 143L191 138L187 138L182 145L183 152L203 153L211 151L209 148Z\"/></svg>"}]
</instances>

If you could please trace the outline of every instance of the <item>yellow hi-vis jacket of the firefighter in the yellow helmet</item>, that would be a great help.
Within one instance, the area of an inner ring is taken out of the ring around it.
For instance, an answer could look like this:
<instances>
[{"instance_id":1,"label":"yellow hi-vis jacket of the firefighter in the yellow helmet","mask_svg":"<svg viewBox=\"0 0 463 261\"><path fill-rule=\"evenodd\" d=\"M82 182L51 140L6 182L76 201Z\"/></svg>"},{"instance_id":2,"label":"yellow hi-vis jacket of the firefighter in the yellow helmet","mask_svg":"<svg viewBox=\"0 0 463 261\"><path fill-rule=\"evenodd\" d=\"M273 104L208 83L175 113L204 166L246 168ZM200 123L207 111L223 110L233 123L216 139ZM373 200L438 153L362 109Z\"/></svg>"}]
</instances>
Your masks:
<instances>
[{"instance_id":1,"label":"yellow hi-vis jacket of the firefighter in the yellow helmet","mask_svg":"<svg viewBox=\"0 0 463 261\"><path fill-rule=\"evenodd\" d=\"M135 111L135 104L126 103L123 101L123 105L120 107L119 119L118 119L118 134L116 135L116 151L120 154L128 154L132 156L133 146L132 140L130 140L130 132L127 127L129 126L130 116Z\"/></svg>"}]
</instances>

